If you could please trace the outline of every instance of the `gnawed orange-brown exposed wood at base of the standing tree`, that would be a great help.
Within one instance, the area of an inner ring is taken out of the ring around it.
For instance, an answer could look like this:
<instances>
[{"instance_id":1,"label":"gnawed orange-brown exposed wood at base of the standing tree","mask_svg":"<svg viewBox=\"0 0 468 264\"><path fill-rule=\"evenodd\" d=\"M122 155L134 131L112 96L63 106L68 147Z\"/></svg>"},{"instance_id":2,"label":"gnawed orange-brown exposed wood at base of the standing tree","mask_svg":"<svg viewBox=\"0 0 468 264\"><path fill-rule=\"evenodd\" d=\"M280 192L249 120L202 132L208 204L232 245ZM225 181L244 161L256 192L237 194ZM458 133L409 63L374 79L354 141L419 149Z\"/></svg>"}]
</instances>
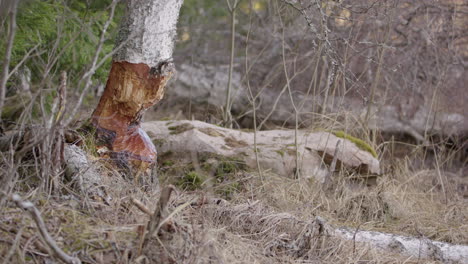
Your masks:
<instances>
[{"instance_id":1,"label":"gnawed orange-brown exposed wood at base of the standing tree","mask_svg":"<svg viewBox=\"0 0 468 264\"><path fill-rule=\"evenodd\" d=\"M140 170L156 161L156 148L140 121L143 112L162 99L171 73L161 74L143 63L112 63L92 120L98 145L106 146L117 162L138 164Z\"/></svg>"}]
</instances>

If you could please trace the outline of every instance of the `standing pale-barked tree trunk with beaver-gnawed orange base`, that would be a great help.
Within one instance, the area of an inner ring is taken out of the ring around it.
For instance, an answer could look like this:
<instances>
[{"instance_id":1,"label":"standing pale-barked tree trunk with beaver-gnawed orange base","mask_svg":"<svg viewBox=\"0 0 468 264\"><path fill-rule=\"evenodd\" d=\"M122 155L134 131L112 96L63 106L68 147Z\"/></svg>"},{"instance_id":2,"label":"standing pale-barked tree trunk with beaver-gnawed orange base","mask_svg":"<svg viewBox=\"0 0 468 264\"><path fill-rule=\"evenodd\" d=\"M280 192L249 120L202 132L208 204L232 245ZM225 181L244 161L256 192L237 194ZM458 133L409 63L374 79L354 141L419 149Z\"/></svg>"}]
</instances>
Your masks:
<instances>
[{"instance_id":1,"label":"standing pale-barked tree trunk with beaver-gnawed orange base","mask_svg":"<svg viewBox=\"0 0 468 264\"><path fill-rule=\"evenodd\" d=\"M160 101L174 66L173 38L183 0L127 0L112 68L92 120L98 146L134 176L148 171L156 148L140 128ZM137 174L135 174L137 173Z\"/></svg>"}]
</instances>

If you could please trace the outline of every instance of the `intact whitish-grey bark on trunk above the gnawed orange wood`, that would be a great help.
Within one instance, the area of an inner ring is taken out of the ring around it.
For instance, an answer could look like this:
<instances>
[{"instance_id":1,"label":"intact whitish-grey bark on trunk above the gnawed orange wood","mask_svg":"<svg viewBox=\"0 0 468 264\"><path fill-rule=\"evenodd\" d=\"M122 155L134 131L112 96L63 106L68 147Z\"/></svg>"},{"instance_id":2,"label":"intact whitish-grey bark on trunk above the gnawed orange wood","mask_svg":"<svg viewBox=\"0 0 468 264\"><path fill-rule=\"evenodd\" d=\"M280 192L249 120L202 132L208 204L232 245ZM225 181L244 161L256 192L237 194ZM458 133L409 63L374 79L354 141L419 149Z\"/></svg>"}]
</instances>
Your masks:
<instances>
[{"instance_id":1,"label":"intact whitish-grey bark on trunk above the gnawed orange wood","mask_svg":"<svg viewBox=\"0 0 468 264\"><path fill-rule=\"evenodd\" d=\"M127 0L114 61L150 67L172 58L179 10L183 0Z\"/></svg>"}]
</instances>

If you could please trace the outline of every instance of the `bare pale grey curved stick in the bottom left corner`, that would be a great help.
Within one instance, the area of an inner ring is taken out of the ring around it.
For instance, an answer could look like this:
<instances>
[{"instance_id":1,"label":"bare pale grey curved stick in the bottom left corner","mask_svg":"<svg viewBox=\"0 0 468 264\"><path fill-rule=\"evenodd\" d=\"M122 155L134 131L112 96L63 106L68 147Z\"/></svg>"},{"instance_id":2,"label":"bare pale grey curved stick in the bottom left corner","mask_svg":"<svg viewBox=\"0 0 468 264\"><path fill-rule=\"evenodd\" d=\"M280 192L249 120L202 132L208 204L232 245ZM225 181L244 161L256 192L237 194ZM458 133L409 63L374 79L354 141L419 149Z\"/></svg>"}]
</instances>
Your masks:
<instances>
[{"instance_id":1,"label":"bare pale grey curved stick in the bottom left corner","mask_svg":"<svg viewBox=\"0 0 468 264\"><path fill-rule=\"evenodd\" d=\"M61 248L58 247L55 240L50 236L47 228L45 226L44 220L41 217L41 213L39 210L34 206L33 203L27 200L22 200L21 197L17 194L13 194L11 196L11 200L13 200L16 205L26 211L29 212L31 218L36 223L37 228L39 229L39 233L41 234L42 239L46 242L46 244L50 247L52 252L63 262L67 264L81 264L81 260L75 257L71 257L67 255Z\"/></svg>"}]
</instances>

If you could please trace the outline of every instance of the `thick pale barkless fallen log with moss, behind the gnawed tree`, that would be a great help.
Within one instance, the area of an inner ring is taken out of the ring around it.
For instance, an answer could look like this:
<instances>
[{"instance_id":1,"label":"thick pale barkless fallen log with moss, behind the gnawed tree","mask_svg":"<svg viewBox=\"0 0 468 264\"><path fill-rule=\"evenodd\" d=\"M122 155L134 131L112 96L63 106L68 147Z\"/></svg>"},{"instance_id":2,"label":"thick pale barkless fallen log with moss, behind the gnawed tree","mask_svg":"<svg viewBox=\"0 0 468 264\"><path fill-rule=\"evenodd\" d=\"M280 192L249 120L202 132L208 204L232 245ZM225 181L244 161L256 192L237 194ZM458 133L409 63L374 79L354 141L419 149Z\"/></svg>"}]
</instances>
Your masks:
<instances>
[{"instance_id":1,"label":"thick pale barkless fallen log with moss, behind the gnawed tree","mask_svg":"<svg viewBox=\"0 0 468 264\"><path fill-rule=\"evenodd\" d=\"M291 177L299 170L304 178L323 180L329 174L324 164L331 165L336 155L336 170L350 170L365 177L380 174L379 160L370 152L324 131L299 130L297 152L294 130L258 131L256 155L253 132L188 120L147 122L142 128L158 147L160 157L172 153L175 159L192 161L193 154L199 157L212 155L241 160L255 169L258 156L264 170L271 169L278 175ZM337 152L338 141L342 143ZM297 153L299 157L296 157ZM299 168L296 168L296 158Z\"/></svg>"}]
</instances>

